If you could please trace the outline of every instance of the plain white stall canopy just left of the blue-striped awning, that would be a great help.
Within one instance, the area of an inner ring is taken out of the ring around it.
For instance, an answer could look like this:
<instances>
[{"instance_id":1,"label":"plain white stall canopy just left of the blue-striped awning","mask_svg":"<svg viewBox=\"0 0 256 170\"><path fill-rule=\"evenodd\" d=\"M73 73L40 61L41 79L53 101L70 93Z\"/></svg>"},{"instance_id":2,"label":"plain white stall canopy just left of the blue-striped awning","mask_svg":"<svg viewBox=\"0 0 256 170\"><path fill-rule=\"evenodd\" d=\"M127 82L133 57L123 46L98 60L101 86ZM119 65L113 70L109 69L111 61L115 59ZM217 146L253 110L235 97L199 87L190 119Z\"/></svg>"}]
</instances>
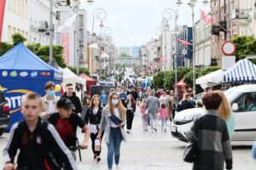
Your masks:
<instances>
[{"instance_id":1,"label":"plain white stall canopy just left of the blue-striped awning","mask_svg":"<svg viewBox=\"0 0 256 170\"><path fill-rule=\"evenodd\" d=\"M214 85L217 85L219 82L216 81L215 77L219 77L223 74L222 70L213 71L203 77L199 77L195 80L195 84L200 84L201 88L211 88Z\"/></svg>"}]
</instances>

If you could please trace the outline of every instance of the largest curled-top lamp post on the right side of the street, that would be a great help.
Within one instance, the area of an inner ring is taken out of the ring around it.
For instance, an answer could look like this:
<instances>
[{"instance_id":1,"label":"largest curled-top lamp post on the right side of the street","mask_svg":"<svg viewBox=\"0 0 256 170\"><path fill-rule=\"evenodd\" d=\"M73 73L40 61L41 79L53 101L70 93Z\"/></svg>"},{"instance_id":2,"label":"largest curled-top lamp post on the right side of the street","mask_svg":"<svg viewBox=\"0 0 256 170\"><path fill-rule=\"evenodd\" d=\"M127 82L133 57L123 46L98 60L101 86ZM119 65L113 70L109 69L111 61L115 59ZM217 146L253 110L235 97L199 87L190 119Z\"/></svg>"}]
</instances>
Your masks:
<instances>
[{"instance_id":1,"label":"largest curled-top lamp post on the right side of the street","mask_svg":"<svg viewBox=\"0 0 256 170\"><path fill-rule=\"evenodd\" d=\"M177 41L177 18L178 18L178 11L174 10L172 8L166 8L163 12L163 18L165 20L171 20L172 19L172 14L174 14L175 17L175 41ZM175 89L174 89L174 95L175 95L175 103L177 105L177 46L175 49L175 53L174 53L174 70L175 70Z\"/></svg>"}]
</instances>

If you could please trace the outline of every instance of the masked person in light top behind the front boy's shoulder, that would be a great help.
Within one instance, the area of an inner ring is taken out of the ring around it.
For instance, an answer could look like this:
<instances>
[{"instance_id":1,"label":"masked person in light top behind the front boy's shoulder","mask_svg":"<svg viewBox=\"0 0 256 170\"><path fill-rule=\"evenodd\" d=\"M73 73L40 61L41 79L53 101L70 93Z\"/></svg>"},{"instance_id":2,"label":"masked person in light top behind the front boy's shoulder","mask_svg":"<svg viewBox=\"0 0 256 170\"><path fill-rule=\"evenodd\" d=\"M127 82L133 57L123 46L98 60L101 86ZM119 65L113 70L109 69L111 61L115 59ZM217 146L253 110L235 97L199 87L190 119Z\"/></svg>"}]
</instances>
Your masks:
<instances>
[{"instance_id":1,"label":"masked person in light top behind the front boy's shoulder","mask_svg":"<svg viewBox=\"0 0 256 170\"><path fill-rule=\"evenodd\" d=\"M56 104L59 97L55 96L55 83L46 82L44 85L45 95L42 98L44 104L44 112L40 115L42 119L46 120L51 114L55 113Z\"/></svg>"}]
</instances>

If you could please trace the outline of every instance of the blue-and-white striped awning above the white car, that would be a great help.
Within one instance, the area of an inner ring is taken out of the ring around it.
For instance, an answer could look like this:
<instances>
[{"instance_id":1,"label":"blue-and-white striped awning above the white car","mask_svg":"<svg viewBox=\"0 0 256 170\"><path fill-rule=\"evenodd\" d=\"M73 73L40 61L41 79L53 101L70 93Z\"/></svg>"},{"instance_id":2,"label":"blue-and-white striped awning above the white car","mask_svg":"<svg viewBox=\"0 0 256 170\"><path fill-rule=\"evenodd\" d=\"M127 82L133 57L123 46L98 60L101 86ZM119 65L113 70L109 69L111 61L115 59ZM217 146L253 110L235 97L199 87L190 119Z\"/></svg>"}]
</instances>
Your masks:
<instances>
[{"instance_id":1,"label":"blue-and-white striped awning above the white car","mask_svg":"<svg viewBox=\"0 0 256 170\"><path fill-rule=\"evenodd\" d=\"M224 71L223 82L254 82L256 81L256 65L249 59L241 59L236 65Z\"/></svg>"}]
</instances>

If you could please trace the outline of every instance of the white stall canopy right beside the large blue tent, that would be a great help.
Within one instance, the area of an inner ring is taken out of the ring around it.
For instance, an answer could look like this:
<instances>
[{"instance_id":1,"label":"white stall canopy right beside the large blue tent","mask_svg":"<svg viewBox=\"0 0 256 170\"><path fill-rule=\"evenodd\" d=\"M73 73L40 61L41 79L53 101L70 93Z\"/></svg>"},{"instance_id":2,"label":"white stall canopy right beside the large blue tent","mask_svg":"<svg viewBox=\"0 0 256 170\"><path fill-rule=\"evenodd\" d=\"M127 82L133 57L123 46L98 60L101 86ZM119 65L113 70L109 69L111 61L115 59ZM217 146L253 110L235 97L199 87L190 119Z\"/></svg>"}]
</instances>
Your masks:
<instances>
[{"instance_id":1,"label":"white stall canopy right beside the large blue tent","mask_svg":"<svg viewBox=\"0 0 256 170\"><path fill-rule=\"evenodd\" d=\"M64 84L76 82L85 86L85 80L80 77L77 77L77 75L75 75L73 71L70 71L68 68L63 69L62 71Z\"/></svg>"}]
</instances>

